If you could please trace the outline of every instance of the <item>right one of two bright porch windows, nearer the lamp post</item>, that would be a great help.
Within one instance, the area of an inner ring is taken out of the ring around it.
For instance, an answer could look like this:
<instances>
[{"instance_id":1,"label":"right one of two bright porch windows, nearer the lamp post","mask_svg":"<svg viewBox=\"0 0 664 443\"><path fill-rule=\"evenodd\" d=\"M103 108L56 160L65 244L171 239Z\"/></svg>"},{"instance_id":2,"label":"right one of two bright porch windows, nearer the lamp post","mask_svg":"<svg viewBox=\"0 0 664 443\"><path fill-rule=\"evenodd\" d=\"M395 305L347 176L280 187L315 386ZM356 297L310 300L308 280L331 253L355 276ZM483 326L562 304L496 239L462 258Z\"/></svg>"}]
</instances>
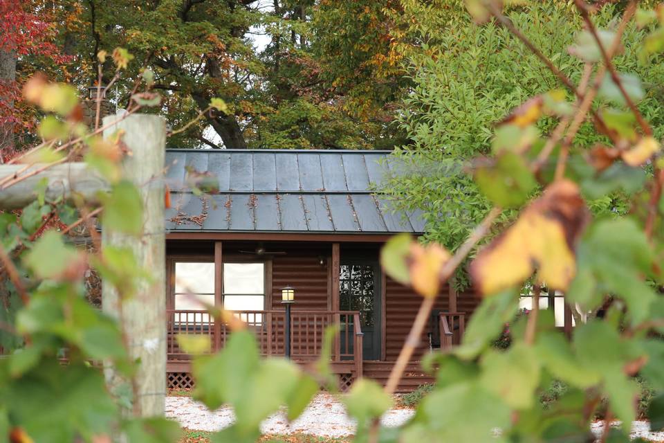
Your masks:
<instances>
[{"instance_id":1,"label":"right one of two bright porch windows, nearer the lamp post","mask_svg":"<svg viewBox=\"0 0 664 443\"><path fill-rule=\"evenodd\" d=\"M223 264L223 307L230 311L264 309L265 264Z\"/></svg>"}]
</instances>

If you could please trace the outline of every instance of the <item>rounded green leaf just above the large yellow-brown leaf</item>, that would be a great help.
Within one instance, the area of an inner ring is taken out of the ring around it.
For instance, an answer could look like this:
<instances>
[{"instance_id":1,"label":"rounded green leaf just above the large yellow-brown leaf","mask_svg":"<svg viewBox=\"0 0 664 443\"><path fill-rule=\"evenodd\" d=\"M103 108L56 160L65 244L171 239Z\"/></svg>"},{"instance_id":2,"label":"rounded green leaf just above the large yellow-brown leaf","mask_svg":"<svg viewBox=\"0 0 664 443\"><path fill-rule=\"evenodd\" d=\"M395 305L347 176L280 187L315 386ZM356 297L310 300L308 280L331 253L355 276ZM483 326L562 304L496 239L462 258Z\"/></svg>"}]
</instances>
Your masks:
<instances>
[{"instance_id":1,"label":"rounded green leaf just above the large yellow-brown leaf","mask_svg":"<svg viewBox=\"0 0 664 443\"><path fill-rule=\"evenodd\" d=\"M521 206L537 186L526 160L519 154L504 152L495 165L480 166L474 172L479 190L498 206Z\"/></svg>"}]
</instances>

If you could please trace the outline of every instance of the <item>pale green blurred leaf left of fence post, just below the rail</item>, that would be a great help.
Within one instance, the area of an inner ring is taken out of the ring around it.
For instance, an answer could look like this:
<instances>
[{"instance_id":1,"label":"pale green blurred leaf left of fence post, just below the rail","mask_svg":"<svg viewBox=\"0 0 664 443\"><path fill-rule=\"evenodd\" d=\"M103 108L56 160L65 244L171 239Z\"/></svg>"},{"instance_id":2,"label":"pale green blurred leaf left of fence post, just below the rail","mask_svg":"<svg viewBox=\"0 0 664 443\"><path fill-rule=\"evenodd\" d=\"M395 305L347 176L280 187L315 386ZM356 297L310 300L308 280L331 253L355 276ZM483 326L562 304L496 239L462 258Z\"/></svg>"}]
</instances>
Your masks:
<instances>
[{"instance_id":1,"label":"pale green blurred leaf left of fence post, just below the rail","mask_svg":"<svg viewBox=\"0 0 664 443\"><path fill-rule=\"evenodd\" d=\"M78 253L62 241L62 235L48 230L25 255L24 262L39 278L61 278L77 260Z\"/></svg>"}]
</instances>

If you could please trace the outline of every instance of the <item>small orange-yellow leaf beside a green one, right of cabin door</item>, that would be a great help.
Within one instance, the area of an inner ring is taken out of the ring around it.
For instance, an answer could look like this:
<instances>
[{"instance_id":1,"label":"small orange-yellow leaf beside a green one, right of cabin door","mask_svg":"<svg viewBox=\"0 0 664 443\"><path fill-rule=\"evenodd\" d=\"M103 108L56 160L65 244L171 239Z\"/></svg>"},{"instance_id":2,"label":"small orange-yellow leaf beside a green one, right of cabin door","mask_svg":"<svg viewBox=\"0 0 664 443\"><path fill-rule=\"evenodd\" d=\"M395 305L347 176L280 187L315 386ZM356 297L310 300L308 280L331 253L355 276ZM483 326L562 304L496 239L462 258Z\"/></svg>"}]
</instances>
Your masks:
<instances>
[{"instance_id":1,"label":"small orange-yellow leaf beside a green one, right of cabin door","mask_svg":"<svg viewBox=\"0 0 664 443\"><path fill-rule=\"evenodd\" d=\"M441 286L441 267L450 260L450 253L439 244L422 246L414 243L410 254L410 282L413 289L423 297L435 297Z\"/></svg>"}]
</instances>

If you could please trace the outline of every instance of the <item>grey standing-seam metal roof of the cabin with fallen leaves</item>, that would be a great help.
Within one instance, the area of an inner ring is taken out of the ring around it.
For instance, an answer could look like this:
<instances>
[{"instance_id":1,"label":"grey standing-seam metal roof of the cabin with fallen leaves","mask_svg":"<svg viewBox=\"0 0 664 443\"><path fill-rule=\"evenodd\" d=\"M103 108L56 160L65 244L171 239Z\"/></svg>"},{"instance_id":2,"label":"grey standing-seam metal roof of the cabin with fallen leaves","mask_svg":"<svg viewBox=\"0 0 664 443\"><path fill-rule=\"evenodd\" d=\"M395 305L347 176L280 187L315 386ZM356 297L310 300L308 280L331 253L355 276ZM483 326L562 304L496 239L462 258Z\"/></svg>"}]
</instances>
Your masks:
<instances>
[{"instance_id":1,"label":"grey standing-seam metal roof of the cabin with fallen leaves","mask_svg":"<svg viewBox=\"0 0 664 443\"><path fill-rule=\"evenodd\" d=\"M166 150L176 232L421 233L421 213L398 214L379 193L389 151ZM219 194L197 197L187 171L210 172Z\"/></svg>"}]
</instances>

